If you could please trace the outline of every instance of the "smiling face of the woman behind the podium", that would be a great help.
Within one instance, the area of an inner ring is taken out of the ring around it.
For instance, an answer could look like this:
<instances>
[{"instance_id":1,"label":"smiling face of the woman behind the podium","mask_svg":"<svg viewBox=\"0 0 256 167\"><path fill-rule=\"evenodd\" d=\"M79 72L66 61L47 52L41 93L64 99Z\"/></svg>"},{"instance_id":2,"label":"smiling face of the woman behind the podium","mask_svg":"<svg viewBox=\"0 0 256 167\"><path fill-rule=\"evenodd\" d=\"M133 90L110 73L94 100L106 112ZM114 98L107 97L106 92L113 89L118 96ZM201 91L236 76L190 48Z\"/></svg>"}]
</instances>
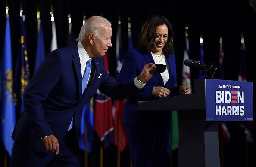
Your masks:
<instances>
[{"instance_id":1,"label":"smiling face of the woman behind the podium","mask_svg":"<svg viewBox=\"0 0 256 167\"><path fill-rule=\"evenodd\" d=\"M168 28L164 25L159 25L156 27L156 38L154 41L153 54L161 55L162 49L168 39Z\"/></svg>"}]
</instances>

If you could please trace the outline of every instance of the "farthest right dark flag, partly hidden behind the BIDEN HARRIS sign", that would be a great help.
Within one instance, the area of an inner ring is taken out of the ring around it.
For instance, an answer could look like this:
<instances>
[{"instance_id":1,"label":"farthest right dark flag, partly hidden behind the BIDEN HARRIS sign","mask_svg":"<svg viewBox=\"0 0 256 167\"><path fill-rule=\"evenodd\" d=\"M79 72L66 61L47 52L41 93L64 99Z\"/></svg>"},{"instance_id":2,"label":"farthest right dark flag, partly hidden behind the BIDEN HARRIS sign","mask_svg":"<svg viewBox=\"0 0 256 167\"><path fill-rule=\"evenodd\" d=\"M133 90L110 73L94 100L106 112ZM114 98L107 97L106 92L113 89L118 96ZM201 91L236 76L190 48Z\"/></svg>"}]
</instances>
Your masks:
<instances>
[{"instance_id":1,"label":"farthest right dark flag, partly hidden behind the BIDEN HARRIS sign","mask_svg":"<svg viewBox=\"0 0 256 167\"><path fill-rule=\"evenodd\" d=\"M244 38L242 38L241 44L242 45L240 48L240 64L239 64L239 72L238 72L238 81L247 81ZM244 128L244 133L247 134L247 141L249 141L250 143L254 143L253 142L253 121L243 121L241 126Z\"/></svg>"}]
</instances>

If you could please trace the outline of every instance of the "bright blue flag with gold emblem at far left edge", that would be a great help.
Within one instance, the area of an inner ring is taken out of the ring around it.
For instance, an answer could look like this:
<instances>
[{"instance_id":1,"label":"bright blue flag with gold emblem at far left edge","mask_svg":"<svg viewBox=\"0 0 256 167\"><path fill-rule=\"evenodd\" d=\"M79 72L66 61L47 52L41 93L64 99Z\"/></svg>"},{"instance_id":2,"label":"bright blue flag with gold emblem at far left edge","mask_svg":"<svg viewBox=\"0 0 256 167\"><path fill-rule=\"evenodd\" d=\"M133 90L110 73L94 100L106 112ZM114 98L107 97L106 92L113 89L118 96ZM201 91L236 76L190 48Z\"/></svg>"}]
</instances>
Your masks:
<instances>
[{"instance_id":1,"label":"bright blue flag with gold emblem at far left edge","mask_svg":"<svg viewBox=\"0 0 256 167\"><path fill-rule=\"evenodd\" d=\"M13 97L12 49L9 15L7 14L5 37L0 62L1 137L3 146L12 155L12 131L15 126L15 100Z\"/></svg>"}]
</instances>

